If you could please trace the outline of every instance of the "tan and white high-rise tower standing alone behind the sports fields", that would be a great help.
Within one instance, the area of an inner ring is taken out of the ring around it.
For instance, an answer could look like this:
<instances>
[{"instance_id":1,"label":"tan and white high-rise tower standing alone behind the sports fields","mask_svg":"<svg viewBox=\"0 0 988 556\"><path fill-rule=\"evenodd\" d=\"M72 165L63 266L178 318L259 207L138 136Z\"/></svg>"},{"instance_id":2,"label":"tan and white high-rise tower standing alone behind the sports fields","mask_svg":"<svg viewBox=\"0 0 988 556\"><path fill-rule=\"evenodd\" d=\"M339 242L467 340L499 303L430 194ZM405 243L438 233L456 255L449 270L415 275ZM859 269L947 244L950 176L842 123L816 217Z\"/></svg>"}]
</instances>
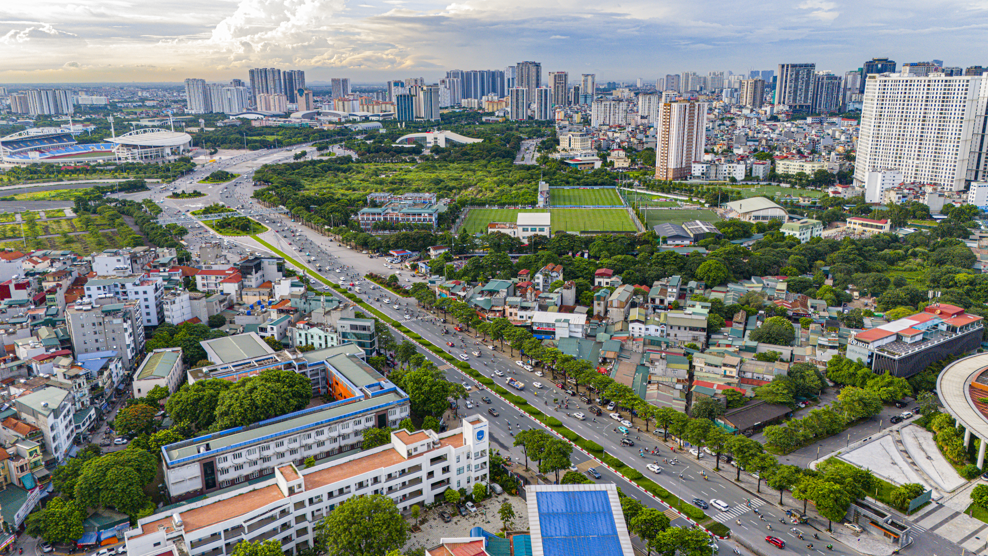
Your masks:
<instances>
[{"instance_id":1,"label":"tan and white high-rise tower standing alone behind the sports fields","mask_svg":"<svg viewBox=\"0 0 988 556\"><path fill-rule=\"evenodd\" d=\"M689 176L693 171L693 162L703 159L706 103L663 103L659 107L655 132L655 179L683 179Z\"/></svg>"}]
</instances>

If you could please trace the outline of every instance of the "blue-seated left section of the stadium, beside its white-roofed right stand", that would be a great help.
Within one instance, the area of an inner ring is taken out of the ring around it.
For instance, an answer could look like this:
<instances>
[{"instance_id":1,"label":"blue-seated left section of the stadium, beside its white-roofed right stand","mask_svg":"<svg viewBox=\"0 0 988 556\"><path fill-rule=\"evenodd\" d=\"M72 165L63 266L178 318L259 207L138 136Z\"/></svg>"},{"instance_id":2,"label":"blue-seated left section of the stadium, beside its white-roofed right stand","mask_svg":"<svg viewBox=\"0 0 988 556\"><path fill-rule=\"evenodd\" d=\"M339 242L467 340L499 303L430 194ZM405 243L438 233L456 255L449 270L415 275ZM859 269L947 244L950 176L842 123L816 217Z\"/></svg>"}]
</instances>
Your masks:
<instances>
[{"instance_id":1,"label":"blue-seated left section of the stadium, beside its white-roofed right stand","mask_svg":"<svg viewBox=\"0 0 988 556\"><path fill-rule=\"evenodd\" d=\"M0 139L0 159L15 164L116 160L110 142L78 144L68 128L32 128Z\"/></svg>"}]
</instances>

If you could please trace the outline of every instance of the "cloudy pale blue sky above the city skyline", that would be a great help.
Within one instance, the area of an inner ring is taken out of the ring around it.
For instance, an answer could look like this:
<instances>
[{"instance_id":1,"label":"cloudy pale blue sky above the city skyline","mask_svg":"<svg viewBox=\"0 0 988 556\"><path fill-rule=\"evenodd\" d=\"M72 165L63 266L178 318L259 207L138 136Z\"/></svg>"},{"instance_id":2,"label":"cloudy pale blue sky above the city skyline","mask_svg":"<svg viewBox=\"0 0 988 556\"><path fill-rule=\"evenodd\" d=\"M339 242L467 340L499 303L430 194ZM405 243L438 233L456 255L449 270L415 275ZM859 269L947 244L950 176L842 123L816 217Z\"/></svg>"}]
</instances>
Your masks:
<instances>
[{"instance_id":1,"label":"cloudy pale blue sky above the city skyline","mask_svg":"<svg viewBox=\"0 0 988 556\"><path fill-rule=\"evenodd\" d=\"M0 83L354 83L518 61L597 81L865 59L988 64L988 0L30 0L0 2ZM575 78L574 78L575 77Z\"/></svg>"}]
</instances>

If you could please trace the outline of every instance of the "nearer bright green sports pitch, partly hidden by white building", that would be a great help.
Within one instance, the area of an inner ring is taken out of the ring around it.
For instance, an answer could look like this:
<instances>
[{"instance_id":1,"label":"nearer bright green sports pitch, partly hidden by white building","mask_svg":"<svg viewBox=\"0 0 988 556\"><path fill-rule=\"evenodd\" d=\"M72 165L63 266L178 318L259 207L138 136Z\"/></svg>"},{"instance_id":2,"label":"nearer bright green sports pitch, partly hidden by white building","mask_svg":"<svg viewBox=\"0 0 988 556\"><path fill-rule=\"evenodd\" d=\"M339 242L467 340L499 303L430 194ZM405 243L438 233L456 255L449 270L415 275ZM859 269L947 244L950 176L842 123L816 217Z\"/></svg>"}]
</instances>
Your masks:
<instances>
[{"instance_id":1,"label":"nearer bright green sports pitch, partly hidden by white building","mask_svg":"<svg viewBox=\"0 0 988 556\"><path fill-rule=\"evenodd\" d=\"M541 209L471 209L462 230L483 233L492 222L516 222L518 213L543 213ZM606 230L634 232L634 223L624 209L552 209L552 231ZM688 219L689 220L689 219Z\"/></svg>"}]
</instances>

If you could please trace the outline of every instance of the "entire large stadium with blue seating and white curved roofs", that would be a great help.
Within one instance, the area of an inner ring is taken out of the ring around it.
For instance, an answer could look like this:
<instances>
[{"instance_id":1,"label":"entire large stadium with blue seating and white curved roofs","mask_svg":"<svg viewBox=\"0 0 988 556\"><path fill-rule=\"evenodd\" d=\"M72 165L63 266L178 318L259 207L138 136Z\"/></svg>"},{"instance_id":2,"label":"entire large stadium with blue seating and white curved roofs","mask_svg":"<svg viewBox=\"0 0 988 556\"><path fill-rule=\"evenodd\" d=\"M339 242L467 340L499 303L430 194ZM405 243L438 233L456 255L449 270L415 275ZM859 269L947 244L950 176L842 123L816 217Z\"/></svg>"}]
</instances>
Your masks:
<instances>
[{"instance_id":1,"label":"entire large stadium with blue seating and white curved roofs","mask_svg":"<svg viewBox=\"0 0 988 556\"><path fill-rule=\"evenodd\" d=\"M15 164L37 162L153 162L191 149L192 137L157 128L136 130L107 142L78 144L68 128L35 128L0 139L0 159Z\"/></svg>"}]
</instances>

